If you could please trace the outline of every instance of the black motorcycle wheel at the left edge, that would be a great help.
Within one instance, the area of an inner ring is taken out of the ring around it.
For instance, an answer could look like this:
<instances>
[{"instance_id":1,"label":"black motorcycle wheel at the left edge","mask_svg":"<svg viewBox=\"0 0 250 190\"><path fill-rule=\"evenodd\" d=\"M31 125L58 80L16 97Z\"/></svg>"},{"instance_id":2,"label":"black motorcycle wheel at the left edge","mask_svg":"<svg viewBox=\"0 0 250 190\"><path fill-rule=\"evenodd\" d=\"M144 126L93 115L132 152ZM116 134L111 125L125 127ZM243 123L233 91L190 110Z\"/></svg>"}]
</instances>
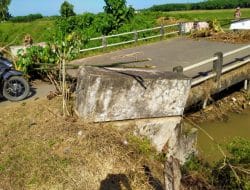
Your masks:
<instances>
[{"instance_id":1,"label":"black motorcycle wheel at the left edge","mask_svg":"<svg viewBox=\"0 0 250 190\"><path fill-rule=\"evenodd\" d=\"M28 82L20 76L13 76L4 81L3 96L10 101L25 99L30 92Z\"/></svg>"}]
</instances>

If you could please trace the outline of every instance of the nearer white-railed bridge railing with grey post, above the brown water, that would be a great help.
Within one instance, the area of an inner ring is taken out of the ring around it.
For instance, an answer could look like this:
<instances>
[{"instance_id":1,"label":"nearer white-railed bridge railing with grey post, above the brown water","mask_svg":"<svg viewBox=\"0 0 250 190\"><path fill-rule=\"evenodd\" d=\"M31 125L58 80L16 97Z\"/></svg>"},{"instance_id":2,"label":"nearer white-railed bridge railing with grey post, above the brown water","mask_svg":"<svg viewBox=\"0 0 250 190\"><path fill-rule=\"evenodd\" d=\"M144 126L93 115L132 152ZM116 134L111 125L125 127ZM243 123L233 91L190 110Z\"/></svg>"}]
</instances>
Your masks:
<instances>
[{"instance_id":1,"label":"nearer white-railed bridge railing with grey post, above the brown water","mask_svg":"<svg viewBox=\"0 0 250 190\"><path fill-rule=\"evenodd\" d=\"M250 45L241 47L239 49L236 49L236 50L224 53L224 54L222 52L217 52L217 53L215 53L214 57L211 57L209 59L206 59L204 61L201 61L199 63L193 64L193 65L190 65L190 66L187 66L184 68L181 66L174 67L173 71L186 72L186 71L190 71L192 69L196 69L198 67L201 67L203 65L206 65L206 64L213 62L213 67L212 67L213 72L211 72L210 74L208 74L205 77L193 78L192 86L195 86L195 85L202 83L202 82L204 82L208 79L211 79L211 78L216 78L216 80L219 80L219 78L222 74L224 74L228 71L231 71L233 69L236 69L236 68L250 62L250 58L247 58L246 60L241 60L241 61L238 61L234 64L223 66L223 58L228 57L228 56L233 55L233 54L236 54L236 53L239 53L239 52L242 52L242 51L247 50L247 49L250 49Z\"/></svg>"}]
</instances>

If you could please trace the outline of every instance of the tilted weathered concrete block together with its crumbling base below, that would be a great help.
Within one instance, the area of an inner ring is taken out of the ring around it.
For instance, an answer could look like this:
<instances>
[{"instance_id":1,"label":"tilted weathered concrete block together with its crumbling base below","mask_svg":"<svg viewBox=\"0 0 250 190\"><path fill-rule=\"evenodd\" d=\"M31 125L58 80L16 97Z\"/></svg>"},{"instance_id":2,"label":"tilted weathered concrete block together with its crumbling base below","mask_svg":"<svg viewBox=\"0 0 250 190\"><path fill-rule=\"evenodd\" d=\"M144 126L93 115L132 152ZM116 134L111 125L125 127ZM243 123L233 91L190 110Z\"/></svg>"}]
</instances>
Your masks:
<instances>
[{"instance_id":1,"label":"tilted weathered concrete block together with its crumbling base below","mask_svg":"<svg viewBox=\"0 0 250 190\"><path fill-rule=\"evenodd\" d=\"M133 125L158 151L183 162L195 141L195 133L184 135L180 125L190 88L181 73L81 67L76 113L87 121Z\"/></svg>"}]
</instances>

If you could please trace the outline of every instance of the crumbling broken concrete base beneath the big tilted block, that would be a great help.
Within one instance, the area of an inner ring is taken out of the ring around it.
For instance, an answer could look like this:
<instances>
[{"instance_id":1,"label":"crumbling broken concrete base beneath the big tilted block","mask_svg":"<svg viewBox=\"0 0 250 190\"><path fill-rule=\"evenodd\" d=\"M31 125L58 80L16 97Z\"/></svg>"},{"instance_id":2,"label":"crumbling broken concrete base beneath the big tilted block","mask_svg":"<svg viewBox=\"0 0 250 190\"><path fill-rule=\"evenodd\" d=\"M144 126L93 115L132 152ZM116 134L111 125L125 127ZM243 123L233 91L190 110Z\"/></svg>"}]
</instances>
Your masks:
<instances>
[{"instance_id":1,"label":"crumbling broken concrete base beneath the big tilted block","mask_svg":"<svg viewBox=\"0 0 250 190\"><path fill-rule=\"evenodd\" d=\"M121 130L126 130L126 126L134 127L135 135L147 137L157 151L163 151L184 163L187 157L196 151L193 146L196 142L196 131L183 132L181 120L180 116L176 116L117 121L112 122L112 125Z\"/></svg>"}]
</instances>

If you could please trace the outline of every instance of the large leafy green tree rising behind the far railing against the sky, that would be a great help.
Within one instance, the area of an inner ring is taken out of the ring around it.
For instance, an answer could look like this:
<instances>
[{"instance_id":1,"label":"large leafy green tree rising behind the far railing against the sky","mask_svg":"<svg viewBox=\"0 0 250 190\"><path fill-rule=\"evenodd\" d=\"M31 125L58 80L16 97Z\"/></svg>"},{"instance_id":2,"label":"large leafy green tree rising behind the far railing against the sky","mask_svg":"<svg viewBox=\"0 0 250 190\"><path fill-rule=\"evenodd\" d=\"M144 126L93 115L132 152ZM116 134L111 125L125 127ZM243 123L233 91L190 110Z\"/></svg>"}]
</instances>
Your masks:
<instances>
[{"instance_id":1,"label":"large leafy green tree rising behind the far railing against the sky","mask_svg":"<svg viewBox=\"0 0 250 190\"><path fill-rule=\"evenodd\" d=\"M108 18L113 18L109 32L117 30L134 16L134 9L127 7L126 0L105 0L105 3L104 12L108 14Z\"/></svg>"}]
</instances>

